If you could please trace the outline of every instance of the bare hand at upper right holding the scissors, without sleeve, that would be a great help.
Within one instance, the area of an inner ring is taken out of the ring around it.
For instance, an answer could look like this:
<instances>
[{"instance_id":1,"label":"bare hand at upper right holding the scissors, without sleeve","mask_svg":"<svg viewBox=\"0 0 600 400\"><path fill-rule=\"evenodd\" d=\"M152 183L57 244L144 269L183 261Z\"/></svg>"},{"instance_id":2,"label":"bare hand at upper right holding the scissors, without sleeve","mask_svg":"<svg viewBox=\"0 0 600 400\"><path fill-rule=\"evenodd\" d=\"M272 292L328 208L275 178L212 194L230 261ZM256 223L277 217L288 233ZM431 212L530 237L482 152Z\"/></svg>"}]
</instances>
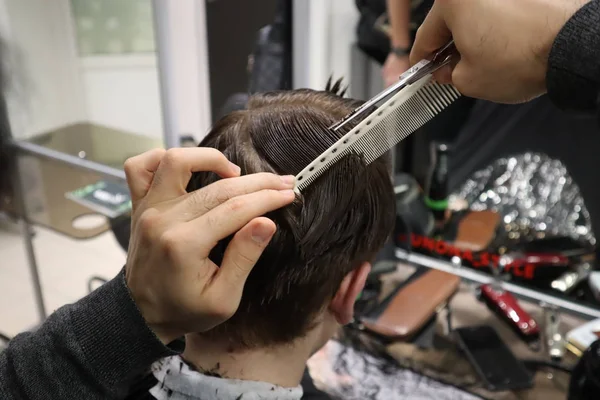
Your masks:
<instances>
[{"instance_id":1,"label":"bare hand at upper right holding the scissors, without sleeve","mask_svg":"<svg viewBox=\"0 0 600 400\"><path fill-rule=\"evenodd\" d=\"M466 96L503 103L546 92L548 55L566 21L589 0L436 0L410 61L451 38L460 60L436 74Z\"/></svg>"}]
</instances>

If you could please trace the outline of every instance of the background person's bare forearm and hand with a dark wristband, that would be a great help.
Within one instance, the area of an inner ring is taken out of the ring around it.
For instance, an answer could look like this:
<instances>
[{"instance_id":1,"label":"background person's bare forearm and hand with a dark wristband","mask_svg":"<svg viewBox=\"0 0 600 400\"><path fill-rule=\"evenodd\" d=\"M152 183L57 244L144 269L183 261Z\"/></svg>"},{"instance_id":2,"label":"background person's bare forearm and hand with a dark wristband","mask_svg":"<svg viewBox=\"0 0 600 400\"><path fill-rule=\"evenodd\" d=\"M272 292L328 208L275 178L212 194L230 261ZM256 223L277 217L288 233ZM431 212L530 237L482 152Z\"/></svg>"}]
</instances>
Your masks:
<instances>
[{"instance_id":1,"label":"background person's bare forearm and hand with a dark wristband","mask_svg":"<svg viewBox=\"0 0 600 400\"><path fill-rule=\"evenodd\" d=\"M390 20L390 54L383 65L383 79L386 86L398 81L410 66L410 2L411 0L387 0L387 13Z\"/></svg>"}]
</instances>

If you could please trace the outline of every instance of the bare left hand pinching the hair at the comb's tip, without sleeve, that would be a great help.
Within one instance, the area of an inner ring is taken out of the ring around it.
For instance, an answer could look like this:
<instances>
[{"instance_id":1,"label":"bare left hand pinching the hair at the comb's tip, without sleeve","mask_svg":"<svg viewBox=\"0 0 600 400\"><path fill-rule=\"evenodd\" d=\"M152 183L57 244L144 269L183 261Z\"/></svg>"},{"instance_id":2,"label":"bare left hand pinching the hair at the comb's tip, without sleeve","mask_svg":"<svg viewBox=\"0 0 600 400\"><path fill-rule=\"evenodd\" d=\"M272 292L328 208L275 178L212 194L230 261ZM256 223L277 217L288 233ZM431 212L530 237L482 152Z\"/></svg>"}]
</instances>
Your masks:
<instances>
[{"instance_id":1,"label":"bare left hand pinching the hair at the comb's tip, without sleeve","mask_svg":"<svg viewBox=\"0 0 600 400\"><path fill-rule=\"evenodd\" d=\"M186 193L196 171L227 179ZM126 280L150 328L169 343L227 320L276 230L261 215L294 200L293 177L239 177L209 148L153 150L127 160L125 173L133 203ZM209 252L235 232L215 265Z\"/></svg>"}]
</instances>

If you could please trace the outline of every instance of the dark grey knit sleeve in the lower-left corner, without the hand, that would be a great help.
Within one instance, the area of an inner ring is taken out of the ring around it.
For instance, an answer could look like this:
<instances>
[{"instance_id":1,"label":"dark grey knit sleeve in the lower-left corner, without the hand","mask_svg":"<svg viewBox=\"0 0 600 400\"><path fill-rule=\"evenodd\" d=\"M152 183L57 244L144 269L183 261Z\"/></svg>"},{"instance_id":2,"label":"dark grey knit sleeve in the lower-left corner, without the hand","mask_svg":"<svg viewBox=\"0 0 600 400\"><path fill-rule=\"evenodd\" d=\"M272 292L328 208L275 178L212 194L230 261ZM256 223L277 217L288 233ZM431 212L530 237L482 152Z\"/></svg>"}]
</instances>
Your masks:
<instances>
[{"instance_id":1,"label":"dark grey knit sleeve in the lower-left corner, without the hand","mask_svg":"<svg viewBox=\"0 0 600 400\"><path fill-rule=\"evenodd\" d=\"M135 374L173 354L146 325L121 272L9 343L0 353L0 399L118 399Z\"/></svg>"}]
</instances>

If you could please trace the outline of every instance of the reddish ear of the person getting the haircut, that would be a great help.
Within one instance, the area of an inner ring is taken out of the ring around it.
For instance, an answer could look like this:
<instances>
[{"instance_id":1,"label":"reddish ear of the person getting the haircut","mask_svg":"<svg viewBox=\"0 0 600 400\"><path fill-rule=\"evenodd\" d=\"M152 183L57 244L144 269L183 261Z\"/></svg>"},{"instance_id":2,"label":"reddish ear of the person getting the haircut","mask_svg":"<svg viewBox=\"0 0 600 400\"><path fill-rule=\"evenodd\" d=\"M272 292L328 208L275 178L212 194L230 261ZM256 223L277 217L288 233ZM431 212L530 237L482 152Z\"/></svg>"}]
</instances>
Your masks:
<instances>
[{"instance_id":1,"label":"reddish ear of the person getting the haircut","mask_svg":"<svg viewBox=\"0 0 600 400\"><path fill-rule=\"evenodd\" d=\"M354 303L365 287L369 272L371 272L371 264L365 262L344 277L335 297L329 304L329 311L339 324L346 325L354 318Z\"/></svg>"}]
</instances>

